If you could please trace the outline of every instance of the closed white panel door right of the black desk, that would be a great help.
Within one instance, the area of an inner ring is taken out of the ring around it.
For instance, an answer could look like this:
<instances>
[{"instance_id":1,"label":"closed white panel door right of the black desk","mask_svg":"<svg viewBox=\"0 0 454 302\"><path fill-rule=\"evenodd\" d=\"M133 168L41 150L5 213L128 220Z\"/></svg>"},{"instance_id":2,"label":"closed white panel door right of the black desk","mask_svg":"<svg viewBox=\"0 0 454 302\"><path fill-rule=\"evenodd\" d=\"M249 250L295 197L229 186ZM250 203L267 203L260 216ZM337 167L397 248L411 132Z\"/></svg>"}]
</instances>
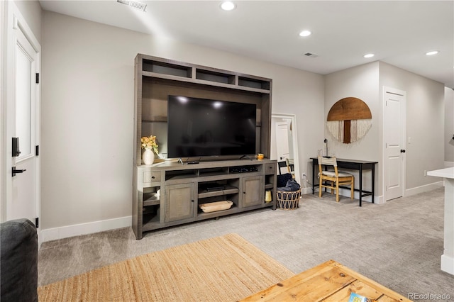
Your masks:
<instances>
[{"instance_id":1,"label":"closed white panel door right of the black desk","mask_svg":"<svg viewBox=\"0 0 454 302\"><path fill-rule=\"evenodd\" d=\"M404 195L405 91L384 88L384 200Z\"/></svg>"}]
</instances>

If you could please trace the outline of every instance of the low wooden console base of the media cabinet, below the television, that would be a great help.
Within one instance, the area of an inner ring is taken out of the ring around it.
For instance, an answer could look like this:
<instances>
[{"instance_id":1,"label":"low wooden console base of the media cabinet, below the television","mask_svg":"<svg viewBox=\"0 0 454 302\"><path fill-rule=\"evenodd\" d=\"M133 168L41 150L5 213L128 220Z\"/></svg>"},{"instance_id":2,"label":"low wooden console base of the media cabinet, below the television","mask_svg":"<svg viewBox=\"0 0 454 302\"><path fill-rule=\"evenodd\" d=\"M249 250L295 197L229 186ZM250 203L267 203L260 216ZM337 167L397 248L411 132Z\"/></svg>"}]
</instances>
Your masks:
<instances>
[{"instance_id":1,"label":"low wooden console base of the media cabinet, below the television","mask_svg":"<svg viewBox=\"0 0 454 302\"><path fill-rule=\"evenodd\" d=\"M258 208L276 208L275 160L226 160L140 165L134 172L133 230L143 232ZM272 201L265 202L265 191ZM227 210L204 213L199 205L232 201Z\"/></svg>"}]
</instances>

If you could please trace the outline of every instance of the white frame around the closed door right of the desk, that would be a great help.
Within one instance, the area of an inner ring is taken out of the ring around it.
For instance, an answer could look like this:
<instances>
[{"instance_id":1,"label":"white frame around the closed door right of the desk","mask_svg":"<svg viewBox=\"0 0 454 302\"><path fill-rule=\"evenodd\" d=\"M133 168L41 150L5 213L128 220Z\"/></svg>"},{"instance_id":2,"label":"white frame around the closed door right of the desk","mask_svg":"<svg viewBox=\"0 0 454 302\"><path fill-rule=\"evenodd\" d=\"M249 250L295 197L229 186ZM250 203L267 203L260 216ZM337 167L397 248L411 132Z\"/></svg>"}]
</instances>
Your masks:
<instances>
[{"instance_id":1,"label":"white frame around the closed door right of the desk","mask_svg":"<svg viewBox=\"0 0 454 302\"><path fill-rule=\"evenodd\" d=\"M383 203L387 202L387 160L386 160L386 141L385 141L385 127L384 127L384 121L385 121L385 106L386 106L386 96L387 93L390 94L397 94L399 96L403 96L404 100L402 101L402 111L401 111L401 119L402 119L402 129L401 135L402 135L402 141L401 141L401 147L406 150L406 91L395 89L389 86L383 86L383 91L382 91L382 162L383 162L383 173L382 173L382 190L383 190ZM402 153L401 153L402 156ZM402 158L402 197L405 196L405 188L406 188L406 156L403 155Z\"/></svg>"}]
</instances>

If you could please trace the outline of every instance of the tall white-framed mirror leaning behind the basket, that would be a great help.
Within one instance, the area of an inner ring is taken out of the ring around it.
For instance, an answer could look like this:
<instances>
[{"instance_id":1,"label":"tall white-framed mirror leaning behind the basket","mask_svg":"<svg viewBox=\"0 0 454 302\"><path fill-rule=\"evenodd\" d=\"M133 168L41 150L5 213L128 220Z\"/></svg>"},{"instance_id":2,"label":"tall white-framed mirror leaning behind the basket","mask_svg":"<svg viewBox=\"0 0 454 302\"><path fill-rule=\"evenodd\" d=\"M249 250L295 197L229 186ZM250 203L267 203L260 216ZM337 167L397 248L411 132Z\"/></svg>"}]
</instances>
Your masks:
<instances>
[{"instance_id":1,"label":"tall white-framed mirror leaning behind the basket","mask_svg":"<svg viewBox=\"0 0 454 302\"><path fill-rule=\"evenodd\" d=\"M271 160L278 162L286 158L294 166L295 179L301 184L299 176L297 117L294 114L272 113L271 116ZM282 168L282 173L285 173ZM277 171L279 174L279 171Z\"/></svg>"}]
</instances>

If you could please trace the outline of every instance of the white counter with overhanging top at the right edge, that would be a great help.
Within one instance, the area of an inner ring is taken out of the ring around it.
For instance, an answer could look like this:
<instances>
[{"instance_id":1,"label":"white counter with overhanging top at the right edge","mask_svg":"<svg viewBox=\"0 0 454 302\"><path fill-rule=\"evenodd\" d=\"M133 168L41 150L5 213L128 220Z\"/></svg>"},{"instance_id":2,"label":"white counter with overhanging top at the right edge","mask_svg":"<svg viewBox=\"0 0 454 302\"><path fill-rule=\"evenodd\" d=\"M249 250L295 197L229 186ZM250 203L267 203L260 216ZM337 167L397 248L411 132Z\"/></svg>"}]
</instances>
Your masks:
<instances>
[{"instance_id":1,"label":"white counter with overhanging top at the right edge","mask_svg":"<svg viewBox=\"0 0 454 302\"><path fill-rule=\"evenodd\" d=\"M454 275L454 167L428 171L427 175L445 179L445 250L441 255L441 270Z\"/></svg>"}]
</instances>

